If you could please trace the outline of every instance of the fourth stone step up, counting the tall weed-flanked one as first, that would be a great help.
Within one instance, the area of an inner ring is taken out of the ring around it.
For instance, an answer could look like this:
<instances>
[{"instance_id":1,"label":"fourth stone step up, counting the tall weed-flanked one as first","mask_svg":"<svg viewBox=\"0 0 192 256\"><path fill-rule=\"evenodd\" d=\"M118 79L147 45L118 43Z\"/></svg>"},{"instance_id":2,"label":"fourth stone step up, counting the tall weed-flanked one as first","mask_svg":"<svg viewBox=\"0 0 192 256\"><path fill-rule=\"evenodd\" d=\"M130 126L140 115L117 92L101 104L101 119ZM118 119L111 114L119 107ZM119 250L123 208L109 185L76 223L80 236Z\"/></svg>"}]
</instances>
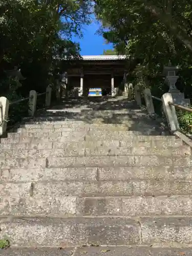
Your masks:
<instances>
[{"instance_id":1,"label":"fourth stone step up, counting the tall weed-flanked one as first","mask_svg":"<svg viewBox=\"0 0 192 256\"><path fill-rule=\"evenodd\" d=\"M191 181L190 167L117 166L77 168L12 168L1 169L1 182L31 181L132 181L132 180Z\"/></svg>"}]
</instances>

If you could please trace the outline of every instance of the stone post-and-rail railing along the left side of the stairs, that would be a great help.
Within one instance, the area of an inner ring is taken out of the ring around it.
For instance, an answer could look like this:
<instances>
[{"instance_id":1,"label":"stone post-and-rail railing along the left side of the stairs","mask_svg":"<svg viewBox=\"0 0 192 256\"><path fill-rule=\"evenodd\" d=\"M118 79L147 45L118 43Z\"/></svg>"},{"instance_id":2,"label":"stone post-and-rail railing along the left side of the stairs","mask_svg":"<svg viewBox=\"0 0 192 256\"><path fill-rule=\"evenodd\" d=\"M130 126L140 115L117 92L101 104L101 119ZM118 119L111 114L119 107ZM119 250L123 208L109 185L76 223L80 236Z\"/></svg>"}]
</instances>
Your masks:
<instances>
[{"instance_id":1,"label":"stone post-and-rail railing along the left side of the stairs","mask_svg":"<svg viewBox=\"0 0 192 256\"><path fill-rule=\"evenodd\" d=\"M60 86L56 87L56 99L60 99ZM0 97L0 136L6 133L7 130L7 122L9 120L9 109L10 106L15 104L20 104L24 101L28 101L28 115L30 117L34 116L36 111L36 102L38 97L45 95L45 106L49 107L51 104L51 94L52 94L52 88L51 86L48 86L46 89L46 92L44 93L37 93L36 91L32 90L29 92L29 97L20 99L14 102L9 102L9 100L6 97Z\"/></svg>"}]
</instances>

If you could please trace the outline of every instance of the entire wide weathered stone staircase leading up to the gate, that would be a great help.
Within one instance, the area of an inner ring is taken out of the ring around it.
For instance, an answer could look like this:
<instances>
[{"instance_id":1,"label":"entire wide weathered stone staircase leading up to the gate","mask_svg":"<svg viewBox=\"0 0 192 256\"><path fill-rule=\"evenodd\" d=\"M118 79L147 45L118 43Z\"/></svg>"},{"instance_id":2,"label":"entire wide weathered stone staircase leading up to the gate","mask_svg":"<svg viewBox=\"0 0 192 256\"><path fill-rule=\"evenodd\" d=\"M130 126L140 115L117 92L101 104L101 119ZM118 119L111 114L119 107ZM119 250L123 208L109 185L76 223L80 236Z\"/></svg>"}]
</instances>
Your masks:
<instances>
[{"instance_id":1,"label":"entire wide weathered stone staircase leading up to the gate","mask_svg":"<svg viewBox=\"0 0 192 256\"><path fill-rule=\"evenodd\" d=\"M1 139L1 255L192 255L191 149L127 99L69 100Z\"/></svg>"}]
</instances>

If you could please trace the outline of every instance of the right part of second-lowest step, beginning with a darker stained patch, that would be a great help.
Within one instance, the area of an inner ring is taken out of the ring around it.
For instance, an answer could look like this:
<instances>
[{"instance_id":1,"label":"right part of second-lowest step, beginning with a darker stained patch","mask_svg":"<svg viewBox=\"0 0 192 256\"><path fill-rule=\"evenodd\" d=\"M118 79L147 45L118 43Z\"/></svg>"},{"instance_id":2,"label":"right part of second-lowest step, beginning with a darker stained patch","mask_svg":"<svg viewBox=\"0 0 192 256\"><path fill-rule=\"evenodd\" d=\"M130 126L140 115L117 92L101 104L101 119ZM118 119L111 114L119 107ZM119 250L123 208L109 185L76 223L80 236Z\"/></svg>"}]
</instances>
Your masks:
<instances>
[{"instance_id":1,"label":"right part of second-lowest step, beginning with a darker stained patch","mask_svg":"<svg viewBox=\"0 0 192 256\"><path fill-rule=\"evenodd\" d=\"M98 197L77 202L77 216L190 216L192 212L191 196Z\"/></svg>"}]
</instances>

